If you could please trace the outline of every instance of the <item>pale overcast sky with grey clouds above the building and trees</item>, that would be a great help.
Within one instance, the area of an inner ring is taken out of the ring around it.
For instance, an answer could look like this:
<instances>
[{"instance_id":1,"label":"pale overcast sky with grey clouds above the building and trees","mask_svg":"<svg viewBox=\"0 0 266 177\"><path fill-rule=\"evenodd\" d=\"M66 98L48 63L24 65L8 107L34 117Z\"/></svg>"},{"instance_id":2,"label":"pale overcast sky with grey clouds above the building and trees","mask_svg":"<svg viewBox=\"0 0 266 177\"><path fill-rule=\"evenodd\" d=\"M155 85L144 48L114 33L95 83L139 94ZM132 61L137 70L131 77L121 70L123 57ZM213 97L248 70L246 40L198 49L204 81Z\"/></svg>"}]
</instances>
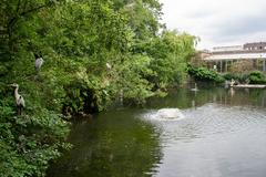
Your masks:
<instances>
[{"instance_id":1,"label":"pale overcast sky with grey clouds above the building and trees","mask_svg":"<svg viewBox=\"0 0 266 177\"><path fill-rule=\"evenodd\" d=\"M200 37L198 49L266 41L266 0L160 0L168 29Z\"/></svg>"}]
</instances>

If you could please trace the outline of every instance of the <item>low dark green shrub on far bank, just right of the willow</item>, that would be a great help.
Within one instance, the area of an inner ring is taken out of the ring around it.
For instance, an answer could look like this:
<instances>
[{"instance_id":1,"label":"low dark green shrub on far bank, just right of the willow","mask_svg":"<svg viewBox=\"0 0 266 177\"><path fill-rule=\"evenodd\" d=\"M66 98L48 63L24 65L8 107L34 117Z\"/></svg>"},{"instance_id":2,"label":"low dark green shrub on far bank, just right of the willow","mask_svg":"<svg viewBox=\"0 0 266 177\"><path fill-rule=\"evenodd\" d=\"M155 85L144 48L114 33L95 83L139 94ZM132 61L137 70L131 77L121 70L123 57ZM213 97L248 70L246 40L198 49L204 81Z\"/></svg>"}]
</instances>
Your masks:
<instances>
[{"instance_id":1,"label":"low dark green shrub on far bank, just right of the willow","mask_svg":"<svg viewBox=\"0 0 266 177\"><path fill-rule=\"evenodd\" d=\"M224 77L222 77L222 75L219 75L216 71L211 71L206 67L194 67L188 65L187 71L190 75L194 76L198 81L217 83L224 82Z\"/></svg>"}]
</instances>

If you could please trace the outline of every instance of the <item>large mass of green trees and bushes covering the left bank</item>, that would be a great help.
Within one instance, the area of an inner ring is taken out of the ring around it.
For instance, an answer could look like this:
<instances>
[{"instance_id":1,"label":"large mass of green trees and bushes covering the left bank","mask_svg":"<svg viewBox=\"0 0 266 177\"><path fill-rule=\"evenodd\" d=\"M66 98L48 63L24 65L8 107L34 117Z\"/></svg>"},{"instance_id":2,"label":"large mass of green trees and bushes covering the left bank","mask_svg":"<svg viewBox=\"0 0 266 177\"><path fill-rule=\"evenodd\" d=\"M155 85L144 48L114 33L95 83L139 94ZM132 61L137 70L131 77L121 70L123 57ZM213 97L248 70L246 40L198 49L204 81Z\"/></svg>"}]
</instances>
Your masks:
<instances>
[{"instance_id":1,"label":"large mass of green trees and bushes covering the left bank","mask_svg":"<svg viewBox=\"0 0 266 177\"><path fill-rule=\"evenodd\" d=\"M43 176L69 148L61 113L100 112L119 97L142 104L181 84L194 54L194 37L160 24L157 0L1 0L0 15L0 176ZM33 54L44 60L39 73Z\"/></svg>"}]
</instances>

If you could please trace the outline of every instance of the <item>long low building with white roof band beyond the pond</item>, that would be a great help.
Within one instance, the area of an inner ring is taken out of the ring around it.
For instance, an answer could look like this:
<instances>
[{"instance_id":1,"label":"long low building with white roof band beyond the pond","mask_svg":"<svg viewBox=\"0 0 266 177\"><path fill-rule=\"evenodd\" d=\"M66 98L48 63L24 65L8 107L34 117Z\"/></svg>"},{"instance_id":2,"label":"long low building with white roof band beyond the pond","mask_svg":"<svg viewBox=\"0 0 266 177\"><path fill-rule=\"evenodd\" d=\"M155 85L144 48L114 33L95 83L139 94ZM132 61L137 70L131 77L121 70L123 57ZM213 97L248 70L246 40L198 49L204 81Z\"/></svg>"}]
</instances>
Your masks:
<instances>
[{"instance_id":1,"label":"long low building with white roof band beyond the pond","mask_svg":"<svg viewBox=\"0 0 266 177\"><path fill-rule=\"evenodd\" d=\"M216 46L204 51L201 58L207 62L208 69L227 72L238 61L250 61L255 70L266 72L266 42L245 43L243 45Z\"/></svg>"}]
</instances>

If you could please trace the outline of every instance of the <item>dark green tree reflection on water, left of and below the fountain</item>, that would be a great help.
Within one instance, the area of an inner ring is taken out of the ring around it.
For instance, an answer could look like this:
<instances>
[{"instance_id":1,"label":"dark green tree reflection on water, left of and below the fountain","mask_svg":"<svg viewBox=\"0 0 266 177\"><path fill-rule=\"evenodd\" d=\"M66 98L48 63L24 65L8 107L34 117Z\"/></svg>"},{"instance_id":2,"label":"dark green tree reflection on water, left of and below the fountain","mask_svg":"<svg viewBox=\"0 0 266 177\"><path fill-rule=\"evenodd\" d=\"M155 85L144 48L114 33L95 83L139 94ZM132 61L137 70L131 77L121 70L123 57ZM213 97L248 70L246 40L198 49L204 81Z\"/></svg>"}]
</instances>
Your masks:
<instances>
[{"instance_id":1,"label":"dark green tree reflection on water, left of and below the fountain","mask_svg":"<svg viewBox=\"0 0 266 177\"><path fill-rule=\"evenodd\" d=\"M132 111L100 114L74 125L69 138L73 149L51 165L48 176L151 176L162 157L158 136Z\"/></svg>"}]
</instances>

